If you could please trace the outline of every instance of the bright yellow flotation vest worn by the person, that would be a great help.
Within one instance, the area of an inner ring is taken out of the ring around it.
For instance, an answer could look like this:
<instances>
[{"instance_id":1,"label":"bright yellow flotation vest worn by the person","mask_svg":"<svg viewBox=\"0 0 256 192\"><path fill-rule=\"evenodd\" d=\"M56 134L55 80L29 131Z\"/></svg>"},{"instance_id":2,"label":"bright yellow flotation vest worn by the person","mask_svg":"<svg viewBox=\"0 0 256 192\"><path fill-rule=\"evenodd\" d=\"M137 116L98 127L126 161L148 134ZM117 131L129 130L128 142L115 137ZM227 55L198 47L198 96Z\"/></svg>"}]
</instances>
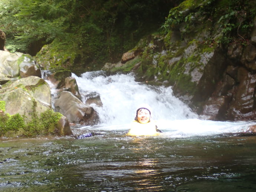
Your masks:
<instances>
[{"instance_id":1,"label":"bright yellow flotation vest worn by the person","mask_svg":"<svg viewBox=\"0 0 256 192\"><path fill-rule=\"evenodd\" d=\"M157 136L160 135L157 132L156 125L154 121L150 121L148 123L139 123L137 121L133 121L131 124L131 129L127 133L129 136Z\"/></svg>"}]
</instances>

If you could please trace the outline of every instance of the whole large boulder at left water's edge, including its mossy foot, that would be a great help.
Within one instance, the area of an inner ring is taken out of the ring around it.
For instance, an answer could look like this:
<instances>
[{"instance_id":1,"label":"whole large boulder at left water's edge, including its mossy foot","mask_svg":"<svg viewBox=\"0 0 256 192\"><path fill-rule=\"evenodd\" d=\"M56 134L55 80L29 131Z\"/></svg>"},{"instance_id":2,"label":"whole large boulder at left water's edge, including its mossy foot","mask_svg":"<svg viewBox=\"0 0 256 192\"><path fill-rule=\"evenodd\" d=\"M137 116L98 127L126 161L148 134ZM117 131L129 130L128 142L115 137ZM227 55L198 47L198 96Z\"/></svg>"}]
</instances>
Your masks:
<instances>
[{"instance_id":1,"label":"whole large boulder at left water's edge, including its mossy foot","mask_svg":"<svg viewBox=\"0 0 256 192\"><path fill-rule=\"evenodd\" d=\"M53 112L49 85L40 77L2 85L0 104L0 136L72 135L63 115Z\"/></svg>"}]
</instances>

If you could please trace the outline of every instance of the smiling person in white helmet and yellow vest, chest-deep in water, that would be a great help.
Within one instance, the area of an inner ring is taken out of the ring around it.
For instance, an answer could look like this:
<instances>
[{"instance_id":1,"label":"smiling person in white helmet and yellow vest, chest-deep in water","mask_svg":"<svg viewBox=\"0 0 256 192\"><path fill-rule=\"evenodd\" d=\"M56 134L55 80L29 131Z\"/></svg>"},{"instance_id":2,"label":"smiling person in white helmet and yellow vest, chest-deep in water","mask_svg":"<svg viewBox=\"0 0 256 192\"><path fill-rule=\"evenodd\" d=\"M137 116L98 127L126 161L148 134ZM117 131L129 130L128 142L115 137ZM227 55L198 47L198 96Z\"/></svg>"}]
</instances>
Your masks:
<instances>
[{"instance_id":1,"label":"smiling person in white helmet and yellow vest, chest-deep in water","mask_svg":"<svg viewBox=\"0 0 256 192\"><path fill-rule=\"evenodd\" d=\"M151 107L147 104L141 105L136 111L135 120L131 124L131 129L127 133L129 136L157 136L161 130L157 129L157 125L152 117Z\"/></svg>"}]
</instances>

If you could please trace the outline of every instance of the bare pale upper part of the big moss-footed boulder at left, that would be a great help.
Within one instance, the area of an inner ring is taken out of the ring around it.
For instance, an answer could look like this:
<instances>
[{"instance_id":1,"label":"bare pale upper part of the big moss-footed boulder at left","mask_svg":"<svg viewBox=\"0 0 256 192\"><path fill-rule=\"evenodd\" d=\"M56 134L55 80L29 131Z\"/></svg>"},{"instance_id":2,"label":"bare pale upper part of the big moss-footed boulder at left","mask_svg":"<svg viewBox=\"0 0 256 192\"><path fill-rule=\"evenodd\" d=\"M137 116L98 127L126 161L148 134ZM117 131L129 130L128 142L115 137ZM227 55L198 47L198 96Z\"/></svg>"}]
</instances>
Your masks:
<instances>
[{"instance_id":1,"label":"bare pale upper part of the big moss-footed boulder at left","mask_svg":"<svg viewBox=\"0 0 256 192\"><path fill-rule=\"evenodd\" d=\"M2 86L1 100L6 102L6 113L14 115L19 113L26 116L25 121L32 120L33 105L36 103L38 114L51 109L51 93L45 80L29 76Z\"/></svg>"}]
</instances>

